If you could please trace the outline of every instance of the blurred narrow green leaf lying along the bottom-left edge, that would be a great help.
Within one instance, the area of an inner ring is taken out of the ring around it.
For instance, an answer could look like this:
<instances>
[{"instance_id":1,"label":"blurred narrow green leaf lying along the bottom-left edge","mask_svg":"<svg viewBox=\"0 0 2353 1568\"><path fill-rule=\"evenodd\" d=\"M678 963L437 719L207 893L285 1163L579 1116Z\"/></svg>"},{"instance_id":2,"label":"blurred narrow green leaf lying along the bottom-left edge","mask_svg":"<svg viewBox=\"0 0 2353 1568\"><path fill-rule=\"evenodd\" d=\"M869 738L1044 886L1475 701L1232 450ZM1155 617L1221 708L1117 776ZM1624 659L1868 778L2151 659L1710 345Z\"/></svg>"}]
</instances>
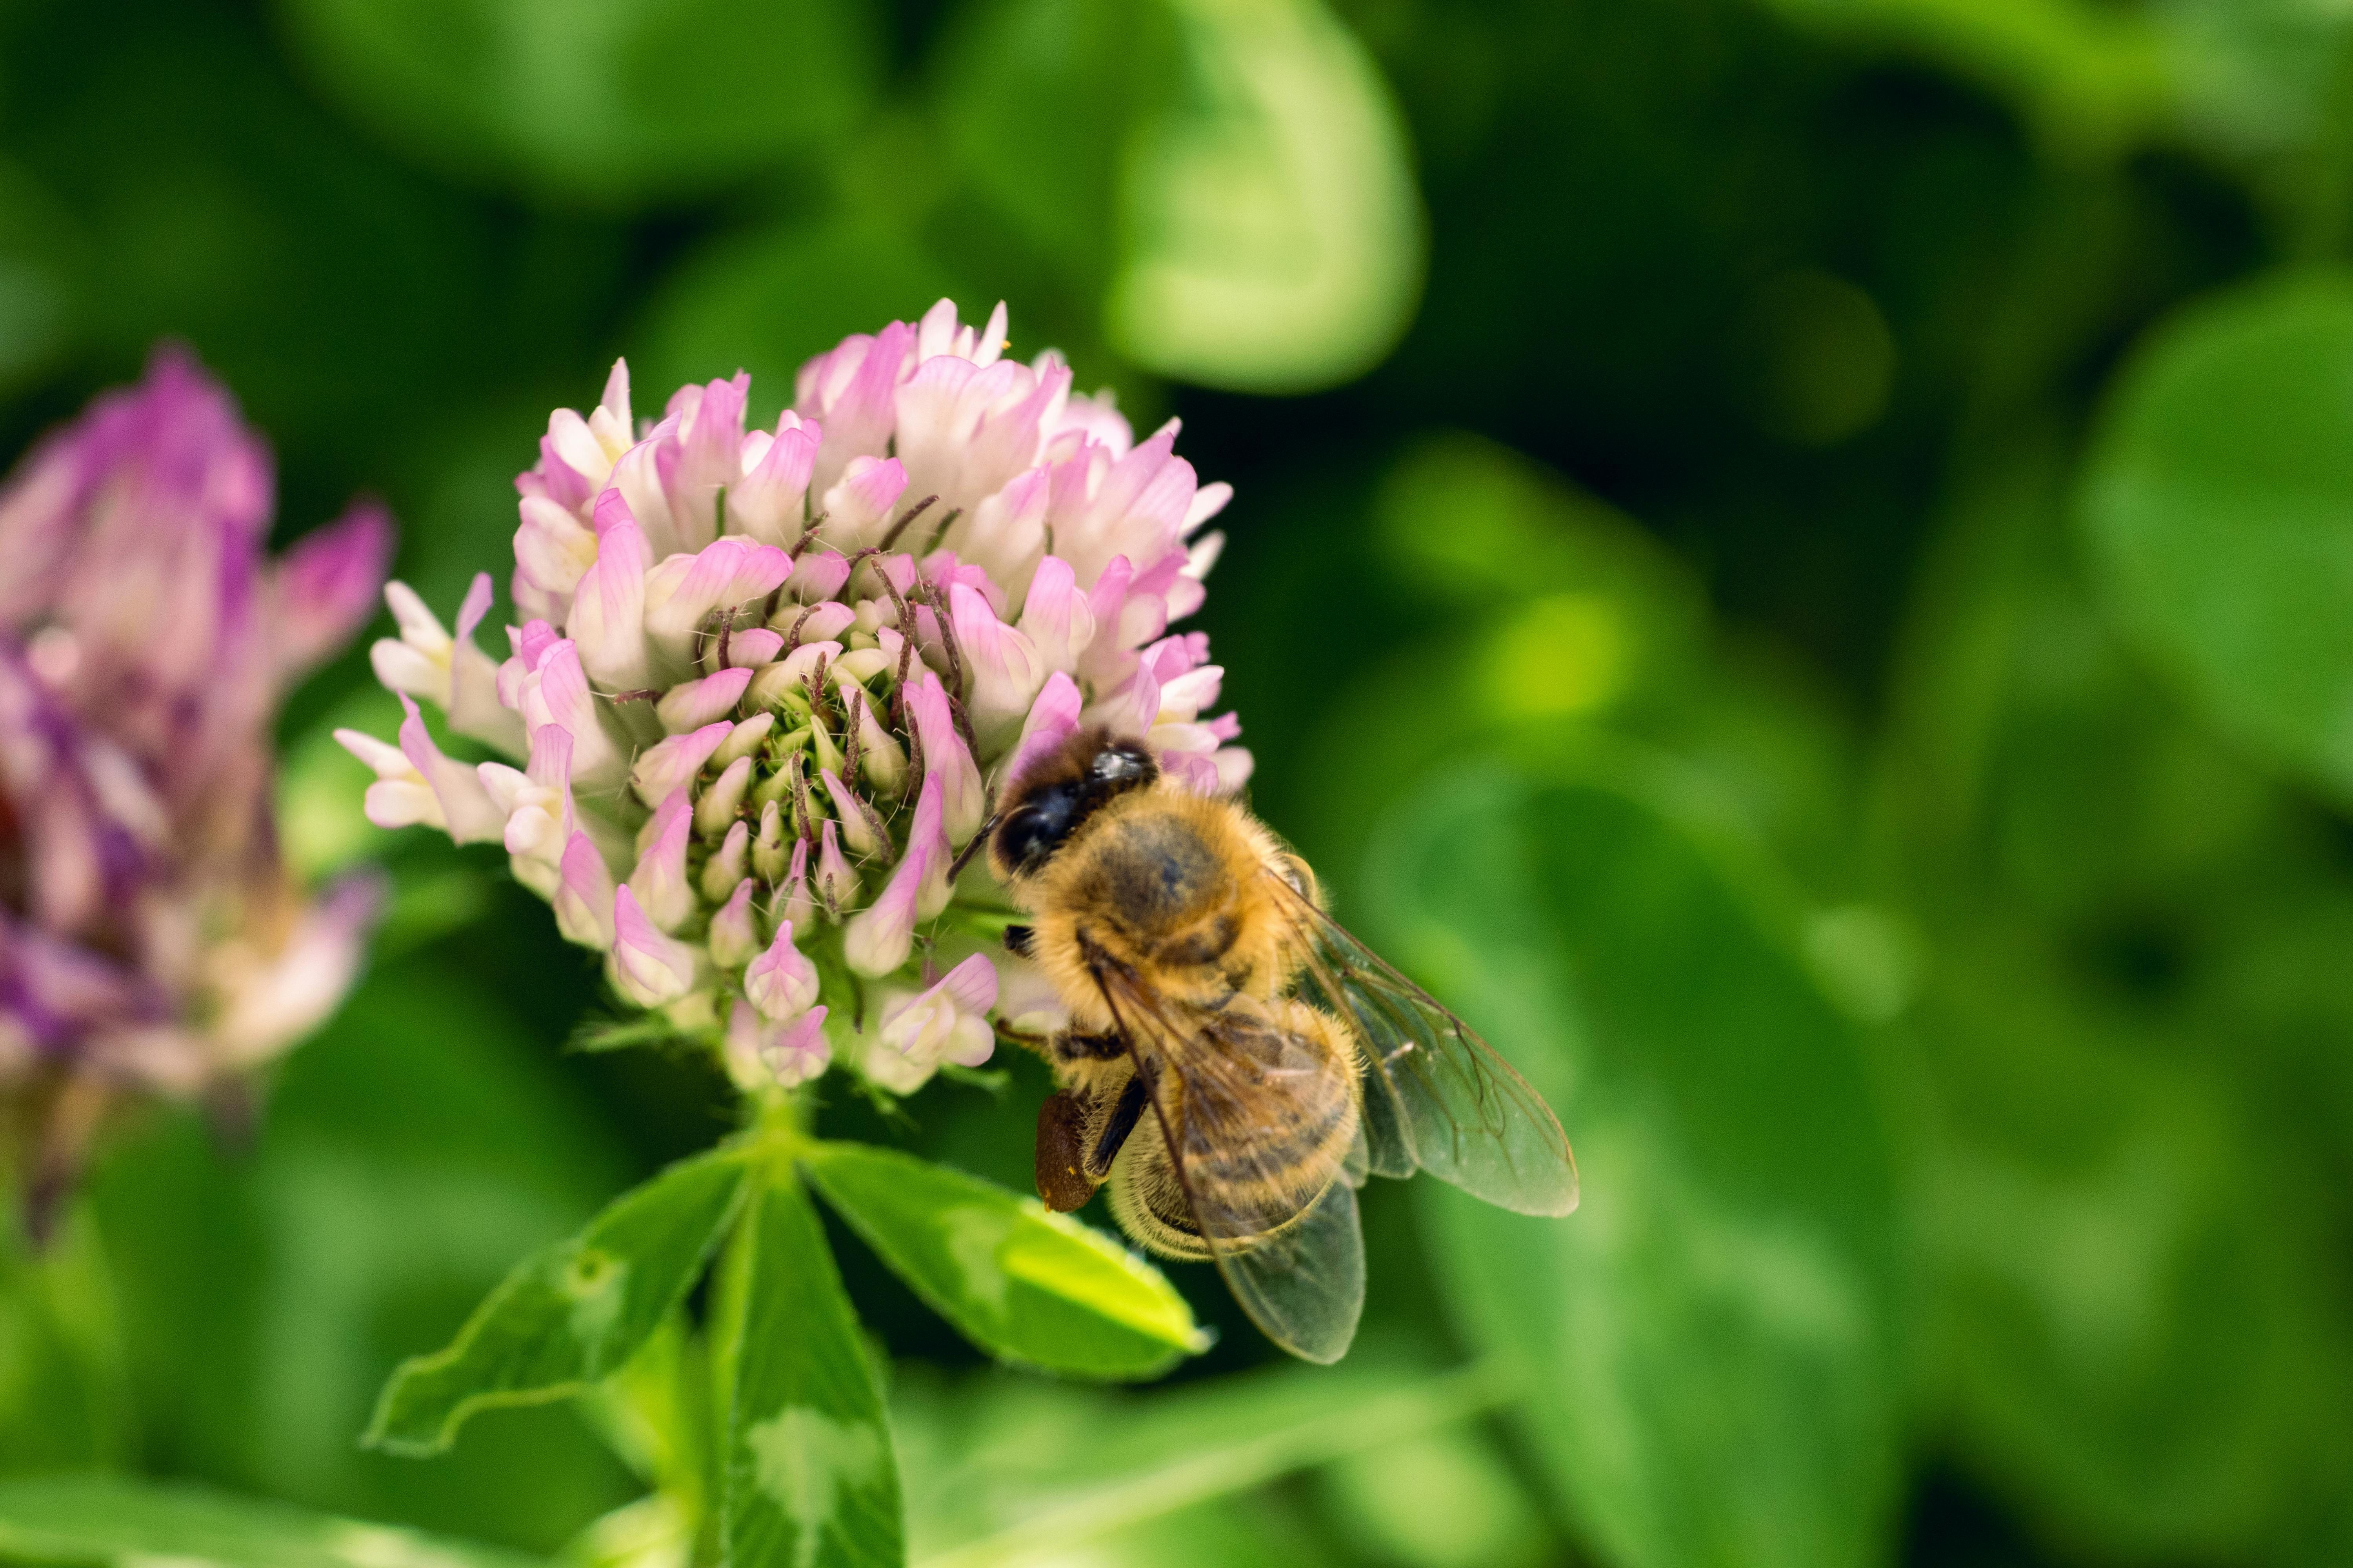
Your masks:
<instances>
[{"instance_id":1,"label":"blurred narrow green leaf lying along the bottom-left edge","mask_svg":"<svg viewBox=\"0 0 2353 1568\"><path fill-rule=\"evenodd\" d=\"M106 1568L527 1568L529 1556L122 1476L0 1481L0 1556Z\"/></svg>"}]
</instances>

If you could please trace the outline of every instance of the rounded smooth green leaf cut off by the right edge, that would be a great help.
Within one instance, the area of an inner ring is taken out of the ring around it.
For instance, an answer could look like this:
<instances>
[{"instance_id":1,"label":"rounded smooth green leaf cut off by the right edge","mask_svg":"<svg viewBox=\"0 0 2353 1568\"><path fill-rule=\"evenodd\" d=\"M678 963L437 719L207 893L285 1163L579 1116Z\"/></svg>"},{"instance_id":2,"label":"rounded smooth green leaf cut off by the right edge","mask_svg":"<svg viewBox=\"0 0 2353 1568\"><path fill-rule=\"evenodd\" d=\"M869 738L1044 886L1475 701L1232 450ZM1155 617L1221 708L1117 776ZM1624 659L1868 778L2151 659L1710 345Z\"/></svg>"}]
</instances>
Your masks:
<instances>
[{"instance_id":1,"label":"rounded smooth green leaf cut off by the right edge","mask_svg":"<svg viewBox=\"0 0 2353 1568\"><path fill-rule=\"evenodd\" d=\"M2108 404L2082 517L2139 649L2242 745L2353 802L2353 275L2160 327Z\"/></svg>"}]
</instances>

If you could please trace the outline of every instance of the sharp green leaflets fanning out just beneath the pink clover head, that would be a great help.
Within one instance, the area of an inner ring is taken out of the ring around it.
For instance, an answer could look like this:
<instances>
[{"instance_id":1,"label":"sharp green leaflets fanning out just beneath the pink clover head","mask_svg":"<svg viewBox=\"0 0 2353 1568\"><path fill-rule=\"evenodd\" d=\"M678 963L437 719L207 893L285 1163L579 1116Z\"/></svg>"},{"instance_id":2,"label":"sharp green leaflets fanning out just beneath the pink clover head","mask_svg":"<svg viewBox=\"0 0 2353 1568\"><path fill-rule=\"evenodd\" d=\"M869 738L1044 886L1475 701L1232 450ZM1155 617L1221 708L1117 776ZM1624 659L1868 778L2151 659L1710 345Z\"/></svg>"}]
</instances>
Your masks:
<instances>
[{"instance_id":1,"label":"sharp green leaflets fanning out just beneath the pink clover head","mask_svg":"<svg viewBox=\"0 0 2353 1568\"><path fill-rule=\"evenodd\" d=\"M520 1262L449 1347L393 1373L367 1441L428 1458L480 1410L593 1394L591 1418L659 1493L588 1526L572 1556L635 1561L708 1533L744 1563L899 1561L880 1380L795 1168L1005 1361L1148 1378L1207 1347L1158 1269L1035 1199L765 1124ZM696 1338L680 1305L722 1237Z\"/></svg>"}]
</instances>

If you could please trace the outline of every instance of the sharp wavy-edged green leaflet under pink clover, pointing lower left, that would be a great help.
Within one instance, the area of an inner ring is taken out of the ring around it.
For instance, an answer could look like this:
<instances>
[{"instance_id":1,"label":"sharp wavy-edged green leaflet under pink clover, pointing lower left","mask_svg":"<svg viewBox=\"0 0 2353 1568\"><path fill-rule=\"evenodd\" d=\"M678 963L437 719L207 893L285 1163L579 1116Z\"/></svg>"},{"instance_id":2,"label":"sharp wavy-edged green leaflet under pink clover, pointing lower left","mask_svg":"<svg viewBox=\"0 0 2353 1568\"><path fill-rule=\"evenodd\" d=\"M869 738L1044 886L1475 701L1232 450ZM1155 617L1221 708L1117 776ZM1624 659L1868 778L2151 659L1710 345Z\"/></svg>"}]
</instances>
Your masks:
<instances>
[{"instance_id":1,"label":"sharp wavy-edged green leaflet under pink clover, pointing lower left","mask_svg":"<svg viewBox=\"0 0 2353 1568\"><path fill-rule=\"evenodd\" d=\"M685 1159L515 1265L447 1349L393 1373L367 1441L440 1453L475 1410L562 1399L619 1371L704 1272L741 1190L732 1150Z\"/></svg>"}]
</instances>

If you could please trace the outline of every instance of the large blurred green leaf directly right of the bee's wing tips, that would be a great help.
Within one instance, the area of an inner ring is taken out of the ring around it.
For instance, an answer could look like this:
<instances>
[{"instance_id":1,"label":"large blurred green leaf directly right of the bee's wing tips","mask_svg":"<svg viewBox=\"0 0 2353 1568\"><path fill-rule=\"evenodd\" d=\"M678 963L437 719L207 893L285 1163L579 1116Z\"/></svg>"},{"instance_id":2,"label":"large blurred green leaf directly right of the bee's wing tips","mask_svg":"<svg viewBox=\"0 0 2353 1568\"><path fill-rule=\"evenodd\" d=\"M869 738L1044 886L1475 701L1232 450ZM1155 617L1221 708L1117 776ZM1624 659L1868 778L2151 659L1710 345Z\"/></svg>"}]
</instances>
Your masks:
<instances>
[{"instance_id":1,"label":"large blurred green leaf directly right of the bee's wing tips","mask_svg":"<svg viewBox=\"0 0 2353 1568\"><path fill-rule=\"evenodd\" d=\"M1595 745L1438 778L1367 907L1558 1107L1584 1206L1421 1185L1440 1288L1628 1568L1878 1563L1899 1483L1892 1171L1859 1041L1692 785ZM1729 1479L1737 1476L1737 1483Z\"/></svg>"}]
</instances>

